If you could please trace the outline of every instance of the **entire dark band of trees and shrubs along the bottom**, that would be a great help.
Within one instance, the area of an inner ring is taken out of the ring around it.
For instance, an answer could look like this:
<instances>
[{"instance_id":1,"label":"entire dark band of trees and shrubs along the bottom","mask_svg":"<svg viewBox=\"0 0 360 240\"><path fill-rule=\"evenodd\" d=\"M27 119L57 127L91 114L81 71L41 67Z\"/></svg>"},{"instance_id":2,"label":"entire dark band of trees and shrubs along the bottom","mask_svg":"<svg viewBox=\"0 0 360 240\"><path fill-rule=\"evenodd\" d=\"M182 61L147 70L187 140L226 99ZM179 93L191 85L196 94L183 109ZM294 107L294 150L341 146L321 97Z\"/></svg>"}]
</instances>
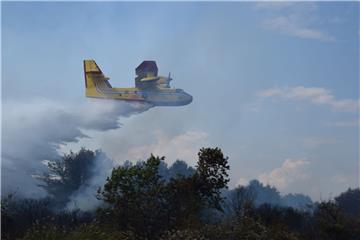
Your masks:
<instances>
[{"instance_id":1,"label":"entire dark band of trees and shrubs along the bottom","mask_svg":"<svg viewBox=\"0 0 360 240\"><path fill-rule=\"evenodd\" d=\"M67 208L89 185L100 151L82 149L49 162L38 179L49 197L8 195L1 203L2 239L360 239L360 190L312 203L304 195L281 196L253 180L227 190L228 158L203 148L195 168L183 161L168 167L164 157L112 169L95 191L93 211Z\"/></svg>"}]
</instances>

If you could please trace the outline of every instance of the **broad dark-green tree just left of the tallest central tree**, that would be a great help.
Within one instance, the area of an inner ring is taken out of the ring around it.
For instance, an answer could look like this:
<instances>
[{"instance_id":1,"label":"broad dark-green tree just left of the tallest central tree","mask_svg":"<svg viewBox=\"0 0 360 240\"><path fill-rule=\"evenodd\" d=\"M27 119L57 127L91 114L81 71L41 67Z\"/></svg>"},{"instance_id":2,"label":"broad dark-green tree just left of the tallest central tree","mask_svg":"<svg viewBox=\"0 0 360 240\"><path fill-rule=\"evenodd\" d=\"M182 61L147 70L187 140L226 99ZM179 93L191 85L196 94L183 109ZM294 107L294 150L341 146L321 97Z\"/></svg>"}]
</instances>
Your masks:
<instances>
[{"instance_id":1,"label":"broad dark-green tree just left of the tallest central tree","mask_svg":"<svg viewBox=\"0 0 360 240\"><path fill-rule=\"evenodd\" d=\"M163 160L151 155L142 164L114 168L99 189L99 198L111 206L104 210L107 217L121 230L153 239L166 226L165 181L158 173Z\"/></svg>"}]
</instances>

